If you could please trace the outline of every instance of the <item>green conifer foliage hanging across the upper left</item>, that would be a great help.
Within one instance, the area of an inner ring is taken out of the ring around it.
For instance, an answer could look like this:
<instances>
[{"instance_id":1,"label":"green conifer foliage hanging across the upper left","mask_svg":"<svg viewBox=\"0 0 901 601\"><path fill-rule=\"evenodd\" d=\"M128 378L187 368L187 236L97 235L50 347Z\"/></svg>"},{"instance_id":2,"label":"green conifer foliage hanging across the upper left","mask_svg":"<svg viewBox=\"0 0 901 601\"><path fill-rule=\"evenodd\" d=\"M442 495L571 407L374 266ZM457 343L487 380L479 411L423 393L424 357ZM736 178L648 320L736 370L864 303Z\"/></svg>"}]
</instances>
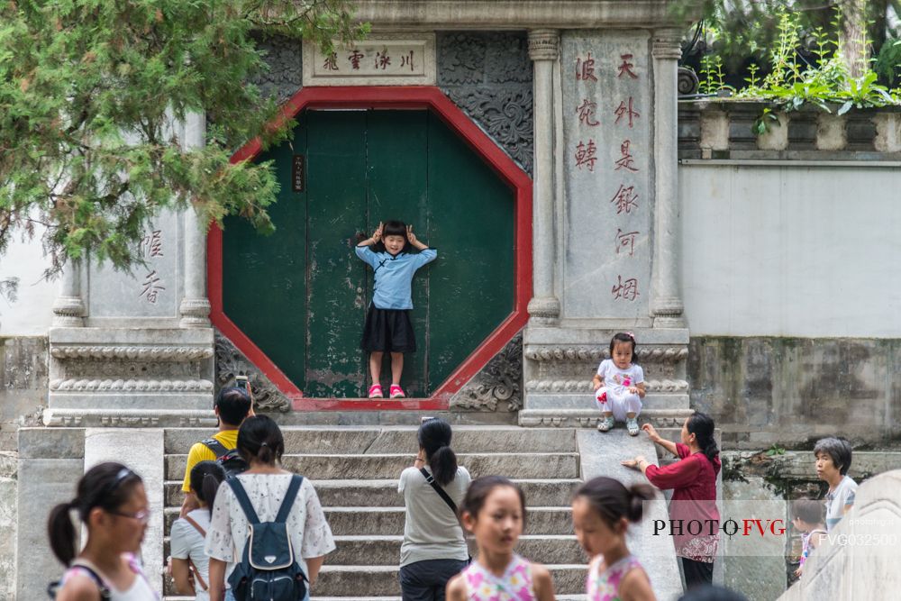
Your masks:
<instances>
[{"instance_id":1,"label":"green conifer foliage hanging across the upper left","mask_svg":"<svg viewBox=\"0 0 901 601\"><path fill-rule=\"evenodd\" d=\"M0 2L0 253L40 231L50 272L90 253L117 269L165 207L203 223L228 214L271 231L278 182L232 152L269 126L255 39L361 39L347 0L3 0ZM202 113L206 145L182 148L173 120Z\"/></svg>"}]
</instances>

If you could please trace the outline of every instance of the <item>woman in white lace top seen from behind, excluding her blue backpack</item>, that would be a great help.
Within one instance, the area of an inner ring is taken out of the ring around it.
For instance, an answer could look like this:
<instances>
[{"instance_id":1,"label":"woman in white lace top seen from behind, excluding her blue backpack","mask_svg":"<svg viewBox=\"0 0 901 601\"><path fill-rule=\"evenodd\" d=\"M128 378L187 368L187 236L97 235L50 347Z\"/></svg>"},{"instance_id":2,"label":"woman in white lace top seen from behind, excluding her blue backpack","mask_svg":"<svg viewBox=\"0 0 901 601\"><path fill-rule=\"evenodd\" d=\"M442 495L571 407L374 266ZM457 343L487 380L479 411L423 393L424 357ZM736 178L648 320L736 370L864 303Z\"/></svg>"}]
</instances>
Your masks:
<instances>
[{"instance_id":1,"label":"woman in white lace top seen from behind, excluding her blue backpack","mask_svg":"<svg viewBox=\"0 0 901 601\"><path fill-rule=\"evenodd\" d=\"M225 601L234 601L231 589L225 587L225 580L231 575L234 564L241 561L250 536L250 524L235 496L235 487L244 490L260 522L272 522L295 477L281 467L285 439L278 423L267 415L248 417L241 423L237 449L250 468L225 480L219 487L210 527L206 531L204 552L210 558L209 586L213 601L221 601L223 596ZM332 529L325 521L323 506L309 478L301 481L286 524L291 547L303 559L300 565L309 583L308 599L323 567L325 554L335 549Z\"/></svg>"}]
</instances>

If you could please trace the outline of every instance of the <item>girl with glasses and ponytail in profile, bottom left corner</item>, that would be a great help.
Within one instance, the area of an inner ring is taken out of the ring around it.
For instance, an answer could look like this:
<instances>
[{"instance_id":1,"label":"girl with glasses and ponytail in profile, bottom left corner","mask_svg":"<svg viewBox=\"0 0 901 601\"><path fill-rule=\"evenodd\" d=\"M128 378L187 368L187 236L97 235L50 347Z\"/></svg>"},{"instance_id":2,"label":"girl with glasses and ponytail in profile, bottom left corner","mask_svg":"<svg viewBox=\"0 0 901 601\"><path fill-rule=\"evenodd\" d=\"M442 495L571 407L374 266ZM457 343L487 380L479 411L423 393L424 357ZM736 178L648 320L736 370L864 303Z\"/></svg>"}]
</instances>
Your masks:
<instances>
[{"instance_id":1,"label":"girl with glasses and ponytail in profile, bottom left corner","mask_svg":"<svg viewBox=\"0 0 901 601\"><path fill-rule=\"evenodd\" d=\"M77 551L71 514L85 524ZM78 480L77 495L50 511L50 548L68 569L57 601L155 601L136 559L150 511L141 477L121 463L100 463Z\"/></svg>"}]
</instances>

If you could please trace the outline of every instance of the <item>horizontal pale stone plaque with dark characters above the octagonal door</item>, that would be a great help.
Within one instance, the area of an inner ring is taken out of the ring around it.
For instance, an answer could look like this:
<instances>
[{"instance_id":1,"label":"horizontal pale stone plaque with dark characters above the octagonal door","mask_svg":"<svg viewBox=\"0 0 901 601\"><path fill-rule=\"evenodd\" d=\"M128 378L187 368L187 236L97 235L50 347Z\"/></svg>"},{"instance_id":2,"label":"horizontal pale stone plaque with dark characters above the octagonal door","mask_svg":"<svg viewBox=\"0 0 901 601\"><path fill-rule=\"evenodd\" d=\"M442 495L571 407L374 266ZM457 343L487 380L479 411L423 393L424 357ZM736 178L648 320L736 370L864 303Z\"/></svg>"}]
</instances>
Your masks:
<instances>
[{"instance_id":1,"label":"horizontal pale stone plaque with dark characters above the octagonal door","mask_svg":"<svg viewBox=\"0 0 901 601\"><path fill-rule=\"evenodd\" d=\"M304 86L433 86L435 36L377 34L331 54L304 42Z\"/></svg>"}]
</instances>

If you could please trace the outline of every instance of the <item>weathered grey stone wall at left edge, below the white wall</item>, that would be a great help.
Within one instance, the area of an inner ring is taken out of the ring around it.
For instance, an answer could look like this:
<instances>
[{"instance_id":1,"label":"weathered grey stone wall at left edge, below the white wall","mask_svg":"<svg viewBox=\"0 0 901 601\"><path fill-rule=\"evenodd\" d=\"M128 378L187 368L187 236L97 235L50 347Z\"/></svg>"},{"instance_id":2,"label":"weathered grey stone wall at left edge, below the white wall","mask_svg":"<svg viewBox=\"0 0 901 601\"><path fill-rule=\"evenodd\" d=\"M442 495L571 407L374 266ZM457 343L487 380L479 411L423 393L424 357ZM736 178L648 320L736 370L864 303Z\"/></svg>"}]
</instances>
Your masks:
<instances>
[{"instance_id":1,"label":"weathered grey stone wall at left edge, below the white wall","mask_svg":"<svg viewBox=\"0 0 901 601\"><path fill-rule=\"evenodd\" d=\"M47 405L47 339L0 339L0 451L15 451L20 425L39 425Z\"/></svg>"}]
</instances>

